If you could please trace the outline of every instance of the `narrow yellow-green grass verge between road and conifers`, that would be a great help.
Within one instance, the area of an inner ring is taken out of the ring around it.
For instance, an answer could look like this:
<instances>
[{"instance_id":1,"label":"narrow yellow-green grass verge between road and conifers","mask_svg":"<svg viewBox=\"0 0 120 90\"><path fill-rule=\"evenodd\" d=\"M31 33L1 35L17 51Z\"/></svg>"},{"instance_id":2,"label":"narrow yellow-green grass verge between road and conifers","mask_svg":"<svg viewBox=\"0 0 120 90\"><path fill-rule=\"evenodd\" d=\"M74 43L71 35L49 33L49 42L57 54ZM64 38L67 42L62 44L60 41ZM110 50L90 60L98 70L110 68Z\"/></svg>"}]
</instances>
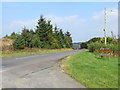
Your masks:
<instances>
[{"instance_id":1,"label":"narrow yellow-green grass verge between road and conifers","mask_svg":"<svg viewBox=\"0 0 120 90\"><path fill-rule=\"evenodd\" d=\"M39 49L39 48L32 48L32 49L23 49L23 50L13 50L13 51L2 51L2 55L0 58L9 58L15 56L25 56L25 55L35 55L35 54L43 54L43 53L55 53L55 52L64 52L64 51L71 51L73 49L65 48L65 49Z\"/></svg>"}]
</instances>

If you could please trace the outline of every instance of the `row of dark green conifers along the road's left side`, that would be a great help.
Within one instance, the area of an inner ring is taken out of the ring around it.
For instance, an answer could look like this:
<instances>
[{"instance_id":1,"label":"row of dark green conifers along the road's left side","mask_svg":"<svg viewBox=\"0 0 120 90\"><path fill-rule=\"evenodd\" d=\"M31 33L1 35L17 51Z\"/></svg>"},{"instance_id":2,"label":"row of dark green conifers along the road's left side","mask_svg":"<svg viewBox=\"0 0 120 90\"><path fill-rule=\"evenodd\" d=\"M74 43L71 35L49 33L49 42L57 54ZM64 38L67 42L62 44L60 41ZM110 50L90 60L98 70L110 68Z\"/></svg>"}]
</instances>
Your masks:
<instances>
[{"instance_id":1,"label":"row of dark green conifers along the road's left side","mask_svg":"<svg viewBox=\"0 0 120 90\"><path fill-rule=\"evenodd\" d=\"M6 36L6 38L14 39L13 46L15 49L24 49L25 47L47 49L72 47L70 32L64 33L62 29L53 26L51 21L47 21L42 15L34 30L24 27L20 34L13 32L11 36Z\"/></svg>"}]
</instances>

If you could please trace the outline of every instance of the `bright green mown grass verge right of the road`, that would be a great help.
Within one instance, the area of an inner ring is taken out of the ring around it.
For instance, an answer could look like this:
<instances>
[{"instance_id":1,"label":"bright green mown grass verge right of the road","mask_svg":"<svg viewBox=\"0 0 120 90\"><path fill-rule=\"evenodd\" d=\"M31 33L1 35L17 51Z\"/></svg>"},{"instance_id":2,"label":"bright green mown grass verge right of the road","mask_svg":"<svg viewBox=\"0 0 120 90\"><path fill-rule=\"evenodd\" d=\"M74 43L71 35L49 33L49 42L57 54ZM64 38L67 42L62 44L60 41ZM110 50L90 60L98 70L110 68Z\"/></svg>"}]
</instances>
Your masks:
<instances>
[{"instance_id":1,"label":"bright green mown grass verge right of the road","mask_svg":"<svg viewBox=\"0 0 120 90\"><path fill-rule=\"evenodd\" d=\"M65 73L87 88L118 88L118 58L101 58L89 51L74 54L60 61Z\"/></svg>"}]
</instances>

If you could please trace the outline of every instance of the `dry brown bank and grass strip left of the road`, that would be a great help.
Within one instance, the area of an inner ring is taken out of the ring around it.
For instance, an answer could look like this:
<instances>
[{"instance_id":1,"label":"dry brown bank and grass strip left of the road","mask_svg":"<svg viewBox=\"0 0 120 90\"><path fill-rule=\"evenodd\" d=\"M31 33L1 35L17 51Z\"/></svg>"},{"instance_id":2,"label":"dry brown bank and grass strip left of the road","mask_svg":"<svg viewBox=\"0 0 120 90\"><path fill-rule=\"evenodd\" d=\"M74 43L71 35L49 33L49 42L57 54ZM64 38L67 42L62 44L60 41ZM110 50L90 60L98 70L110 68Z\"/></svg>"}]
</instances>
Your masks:
<instances>
[{"instance_id":1,"label":"dry brown bank and grass strip left of the road","mask_svg":"<svg viewBox=\"0 0 120 90\"><path fill-rule=\"evenodd\" d=\"M0 39L1 40L1 39ZM15 56L25 56L25 55L34 55L42 53L54 53L54 52L63 52L70 51L72 49L40 49L40 48L25 48L23 50L15 50L12 46L13 40L3 39L0 47L2 48L2 55L0 58L9 58Z\"/></svg>"}]
</instances>

